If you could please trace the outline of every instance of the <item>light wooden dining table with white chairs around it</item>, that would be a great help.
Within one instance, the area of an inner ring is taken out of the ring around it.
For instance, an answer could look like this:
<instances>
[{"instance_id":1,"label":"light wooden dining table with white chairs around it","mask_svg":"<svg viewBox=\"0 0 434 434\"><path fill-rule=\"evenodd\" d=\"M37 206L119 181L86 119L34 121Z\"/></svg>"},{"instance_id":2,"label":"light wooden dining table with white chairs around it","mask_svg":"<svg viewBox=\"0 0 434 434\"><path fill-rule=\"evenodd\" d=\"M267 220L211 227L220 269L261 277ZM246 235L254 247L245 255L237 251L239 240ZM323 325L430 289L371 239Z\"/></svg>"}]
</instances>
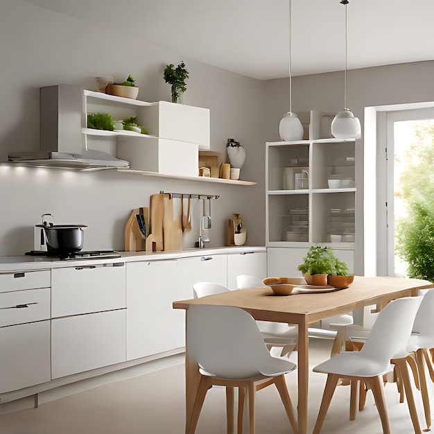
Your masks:
<instances>
[{"instance_id":1,"label":"light wooden dining table with white chairs around it","mask_svg":"<svg viewBox=\"0 0 434 434\"><path fill-rule=\"evenodd\" d=\"M191 304L235 306L248 311L255 320L286 322L298 325L298 434L307 432L309 388L309 336L308 326L333 315L348 313L364 306L376 305L381 310L391 300L416 296L420 289L433 288L430 281L399 277L354 277L348 288L325 293L302 293L277 296L267 286L229 291L193 300L173 303L175 309L189 309ZM186 425L188 433L193 403L200 381L198 363L188 354L186 342Z\"/></svg>"}]
</instances>

